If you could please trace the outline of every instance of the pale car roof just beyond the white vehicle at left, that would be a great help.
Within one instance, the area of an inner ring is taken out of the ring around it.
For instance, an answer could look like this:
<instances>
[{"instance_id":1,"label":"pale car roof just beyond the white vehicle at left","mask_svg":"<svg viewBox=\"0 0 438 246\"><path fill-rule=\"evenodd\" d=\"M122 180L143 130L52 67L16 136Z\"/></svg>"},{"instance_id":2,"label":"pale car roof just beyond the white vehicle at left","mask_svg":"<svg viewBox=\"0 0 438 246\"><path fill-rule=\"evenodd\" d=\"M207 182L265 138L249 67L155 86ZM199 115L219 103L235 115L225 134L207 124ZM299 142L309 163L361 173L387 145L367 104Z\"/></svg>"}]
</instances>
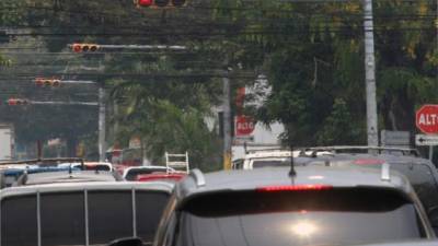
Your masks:
<instances>
[{"instance_id":1,"label":"pale car roof just beyond the white vehicle at left","mask_svg":"<svg viewBox=\"0 0 438 246\"><path fill-rule=\"evenodd\" d=\"M25 185L78 181L116 181L112 172L73 171L28 174Z\"/></svg>"}]
</instances>

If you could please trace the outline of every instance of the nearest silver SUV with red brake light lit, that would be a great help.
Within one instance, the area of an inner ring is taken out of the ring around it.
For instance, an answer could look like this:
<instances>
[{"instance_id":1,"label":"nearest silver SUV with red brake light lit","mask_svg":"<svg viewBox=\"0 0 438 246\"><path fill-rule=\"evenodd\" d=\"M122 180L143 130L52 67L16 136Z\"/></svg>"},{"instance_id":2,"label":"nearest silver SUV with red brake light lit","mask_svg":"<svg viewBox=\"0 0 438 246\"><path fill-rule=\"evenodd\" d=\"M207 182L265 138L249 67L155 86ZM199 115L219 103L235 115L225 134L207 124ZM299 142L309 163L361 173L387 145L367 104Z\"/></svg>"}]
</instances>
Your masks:
<instances>
[{"instance_id":1,"label":"nearest silver SUV with red brake light lit","mask_svg":"<svg viewBox=\"0 0 438 246\"><path fill-rule=\"evenodd\" d=\"M433 238L407 179L358 167L261 168L176 185L154 246L353 245Z\"/></svg>"}]
</instances>

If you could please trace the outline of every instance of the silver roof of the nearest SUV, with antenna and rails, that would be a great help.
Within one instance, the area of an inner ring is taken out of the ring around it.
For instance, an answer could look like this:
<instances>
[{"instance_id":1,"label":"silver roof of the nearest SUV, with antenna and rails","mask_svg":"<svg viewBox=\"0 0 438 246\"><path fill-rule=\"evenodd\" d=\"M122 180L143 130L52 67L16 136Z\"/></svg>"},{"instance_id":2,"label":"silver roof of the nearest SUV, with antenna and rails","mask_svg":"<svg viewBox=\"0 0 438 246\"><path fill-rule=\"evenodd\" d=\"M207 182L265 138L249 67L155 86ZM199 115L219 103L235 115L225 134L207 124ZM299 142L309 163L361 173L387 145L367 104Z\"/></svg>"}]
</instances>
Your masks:
<instances>
[{"instance_id":1,"label":"silver roof of the nearest SUV, with antenna and rails","mask_svg":"<svg viewBox=\"0 0 438 246\"><path fill-rule=\"evenodd\" d=\"M383 168L383 167L382 167ZM201 192L252 190L265 186L293 185L330 185L333 187L368 186L377 188L393 188L412 192L412 187L403 175L390 172L390 180L382 179L382 172L366 167L326 167L297 166L297 176L289 177L290 168L266 167L249 171L222 171L206 175L192 175L177 185L178 196L192 196ZM198 184L197 184L198 183Z\"/></svg>"}]
</instances>

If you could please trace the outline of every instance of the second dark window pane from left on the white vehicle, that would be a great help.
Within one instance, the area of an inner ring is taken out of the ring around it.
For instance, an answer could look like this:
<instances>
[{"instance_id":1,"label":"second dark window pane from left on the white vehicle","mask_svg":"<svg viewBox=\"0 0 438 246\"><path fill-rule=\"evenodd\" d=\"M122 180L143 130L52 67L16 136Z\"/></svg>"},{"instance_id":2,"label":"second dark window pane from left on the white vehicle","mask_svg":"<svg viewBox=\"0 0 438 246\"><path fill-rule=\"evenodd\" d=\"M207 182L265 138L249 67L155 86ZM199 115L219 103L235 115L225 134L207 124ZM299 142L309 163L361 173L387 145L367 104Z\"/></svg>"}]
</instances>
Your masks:
<instances>
[{"instance_id":1,"label":"second dark window pane from left on the white vehicle","mask_svg":"<svg viewBox=\"0 0 438 246\"><path fill-rule=\"evenodd\" d=\"M83 192L41 196L42 244L84 245Z\"/></svg>"}]
</instances>

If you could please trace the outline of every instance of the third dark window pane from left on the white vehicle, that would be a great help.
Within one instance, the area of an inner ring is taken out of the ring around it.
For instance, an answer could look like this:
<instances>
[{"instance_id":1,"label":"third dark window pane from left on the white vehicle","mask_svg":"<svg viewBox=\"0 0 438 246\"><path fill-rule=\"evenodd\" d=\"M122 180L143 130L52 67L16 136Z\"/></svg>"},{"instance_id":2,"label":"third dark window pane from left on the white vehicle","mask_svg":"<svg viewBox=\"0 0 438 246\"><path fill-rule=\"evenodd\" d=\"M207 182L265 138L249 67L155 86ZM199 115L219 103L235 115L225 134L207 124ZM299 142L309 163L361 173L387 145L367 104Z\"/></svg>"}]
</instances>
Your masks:
<instances>
[{"instance_id":1,"label":"third dark window pane from left on the white vehicle","mask_svg":"<svg viewBox=\"0 0 438 246\"><path fill-rule=\"evenodd\" d=\"M89 218L90 244L132 236L131 191L90 191Z\"/></svg>"}]
</instances>

